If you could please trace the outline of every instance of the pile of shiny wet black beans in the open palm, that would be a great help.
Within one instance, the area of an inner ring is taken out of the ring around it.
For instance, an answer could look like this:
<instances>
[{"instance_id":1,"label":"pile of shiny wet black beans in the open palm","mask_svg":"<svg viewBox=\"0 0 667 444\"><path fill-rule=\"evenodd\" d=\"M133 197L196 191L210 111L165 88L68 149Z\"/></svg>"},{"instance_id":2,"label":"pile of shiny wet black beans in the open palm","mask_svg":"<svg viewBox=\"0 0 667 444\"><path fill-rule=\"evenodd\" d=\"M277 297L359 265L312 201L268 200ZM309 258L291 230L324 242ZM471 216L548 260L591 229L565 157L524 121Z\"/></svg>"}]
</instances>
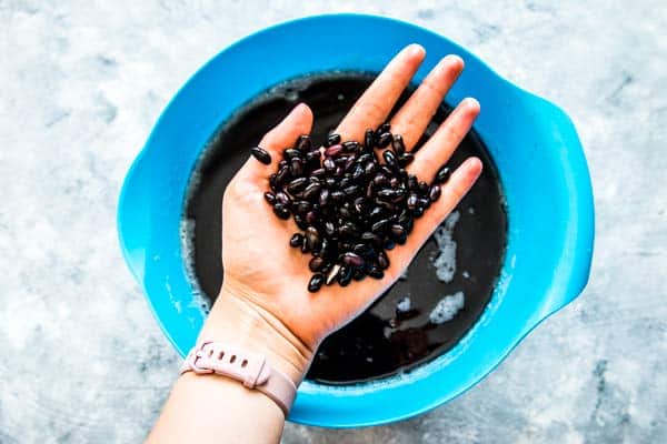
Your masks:
<instances>
[{"instance_id":1,"label":"pile of shiny wet black beans in the open palm","mask_svg":"<svg viewBox=\"0 0 667 444\"><path fill-rule=\"evenodd\" d=\"M376 149L386 149L382 161ZM251 153L271 163L266 150L256 147ZM265 199L278 218L292 216L301 230L289 244L312 255L310 292L334 282L346 286L366 276L382 279L387 251L406 243L415 219L438 200L440 184L449 179L447 167L431 184L409 174L406 167L415 155L388 123L366 130L364 143L330 134L320 149L301 135L282 155Z\"/></svg>"}]
</instances>

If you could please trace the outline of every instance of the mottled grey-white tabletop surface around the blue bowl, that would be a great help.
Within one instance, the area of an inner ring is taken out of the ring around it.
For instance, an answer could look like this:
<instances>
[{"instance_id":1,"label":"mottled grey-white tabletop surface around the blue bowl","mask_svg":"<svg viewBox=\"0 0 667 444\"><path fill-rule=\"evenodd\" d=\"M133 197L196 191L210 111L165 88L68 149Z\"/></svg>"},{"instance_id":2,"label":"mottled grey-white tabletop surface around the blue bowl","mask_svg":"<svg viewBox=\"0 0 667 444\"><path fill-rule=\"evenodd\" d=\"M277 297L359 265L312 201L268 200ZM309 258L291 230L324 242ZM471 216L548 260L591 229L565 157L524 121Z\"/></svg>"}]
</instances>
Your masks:
<instances>
[{"instance_id":1,"label":"mottled grey-white tabletop surface around the blue bowl","mask_svg":"<svg viewBox=\"0 0 667 444\"><path fill-rule=\"evenodd\" d=\"M0 443L147 434L179 359L120 256L123 175L217 51L336 11L426 26L568 110L590 162L596 255L584 294L455 402L366 430L288 424L283 442L667 440L665 4L364 3L0 0Z\"/></svg>"}]
</instances>

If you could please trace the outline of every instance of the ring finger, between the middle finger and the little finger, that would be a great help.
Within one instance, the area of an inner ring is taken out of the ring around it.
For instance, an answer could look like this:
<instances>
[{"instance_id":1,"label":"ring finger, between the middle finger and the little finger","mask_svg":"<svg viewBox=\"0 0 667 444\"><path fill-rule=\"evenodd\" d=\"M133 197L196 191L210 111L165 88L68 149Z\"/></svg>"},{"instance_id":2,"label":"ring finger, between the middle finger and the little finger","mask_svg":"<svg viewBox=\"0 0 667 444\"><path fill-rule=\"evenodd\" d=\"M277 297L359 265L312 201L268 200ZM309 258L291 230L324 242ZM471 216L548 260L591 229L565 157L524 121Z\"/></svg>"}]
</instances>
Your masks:
<instances>
[{"instance_id":1,"label":"ring finger, between the middle finger and the little finger","mask_svg":"<svg viewBox=\"0 0 667 444\"><path fill-rule=\"evenodd\" d=\"M408 171L429 181L451 157L479 114L479 102L464 99L415 155Z\"/></svg>"}]
</instances>

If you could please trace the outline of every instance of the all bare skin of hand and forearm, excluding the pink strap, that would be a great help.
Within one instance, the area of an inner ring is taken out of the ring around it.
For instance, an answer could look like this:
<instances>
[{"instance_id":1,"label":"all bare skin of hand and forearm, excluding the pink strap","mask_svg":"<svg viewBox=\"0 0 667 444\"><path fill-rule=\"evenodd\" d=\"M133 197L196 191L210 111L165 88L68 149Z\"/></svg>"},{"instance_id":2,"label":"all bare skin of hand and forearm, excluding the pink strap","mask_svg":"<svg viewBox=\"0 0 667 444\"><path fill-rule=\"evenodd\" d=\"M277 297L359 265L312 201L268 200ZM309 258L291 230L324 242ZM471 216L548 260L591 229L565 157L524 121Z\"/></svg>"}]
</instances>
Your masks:
<instances>
[{"instance_id":1,"label":"all bare skin of hand and forearm, excluding the pink strap","mask_svg":"<svg viewBox=\"0 0 667 444\"><path fill-rule=\"evenodd\" d=\"M396 100L424 61L418 44L404 48L359 98L336 132L342 140L362 140L367 128L389 118ZM411 150L445 94L464 69L457 56L447 56L427 75L408 102L391 118ZM410 173L430 181L447 162L479 114L479 103L465 99L416 153ZM300 134L310 132L312 112L297 105L259 143L272 158L265 165L253 158L238 171L222 200L222 264L220 295L199 341L220 341L262 353L298 385L320 342L370 305L408 266L432 231L447 218L481 172L477 158L467 159L442 186L440 199L415 221L405 245L388 252L390 266L381 280L352 281L349 286L307 291L310 255L288 246L295 222L276 218L263 200L268 176L280 153ZM226 442L277 443L285 417L258 391L222 376L182 375L148 436L150 443Z\"/></svg>"}]
</instances>

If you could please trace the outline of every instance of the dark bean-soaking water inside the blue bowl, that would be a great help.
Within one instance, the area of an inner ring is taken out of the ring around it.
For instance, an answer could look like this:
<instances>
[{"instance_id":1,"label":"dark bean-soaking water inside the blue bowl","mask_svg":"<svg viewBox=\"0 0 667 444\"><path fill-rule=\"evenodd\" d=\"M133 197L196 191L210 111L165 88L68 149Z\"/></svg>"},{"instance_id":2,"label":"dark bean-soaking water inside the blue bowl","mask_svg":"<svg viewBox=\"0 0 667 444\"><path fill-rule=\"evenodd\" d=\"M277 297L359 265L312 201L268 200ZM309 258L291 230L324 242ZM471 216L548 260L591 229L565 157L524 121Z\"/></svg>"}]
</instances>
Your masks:
<instances>
[{"instance_id":1,"label":"dark bean-soaking water inside the blue bowl","mask_svg":"<svg viewBox=\"0 0 667 444\"><path fill-rule=\"evenodd\" d=\"M215 297L221 285L221 198L247 159L248 149L299 101L313 110L312 135L315 141L323 141L371 80L371 75L361 73L297 79L252 101L221 128L200 162L201 181L187 203L187 216L196 221L195 272L206 294ZM401 101L406 99L407 93ZM427 134L447 112L446 107L439 110ZM322 343L308 379L340 384L410 370L451 349L480 316L504 258L507 218L496 169L474 132L449 164L457 167L469 155L479 157L485 168L456 210L458 222L451 232L456 272L451 281L438 280L434 261L440 249L431 238L409 266L407 279L398 281L364 314ZM450 321L430 322L429 313L438 301L457 292L464 293L465 306ZM410 310L399 312L397 303L405 296L410 299Z\"/></svg>"}]
</instances>

